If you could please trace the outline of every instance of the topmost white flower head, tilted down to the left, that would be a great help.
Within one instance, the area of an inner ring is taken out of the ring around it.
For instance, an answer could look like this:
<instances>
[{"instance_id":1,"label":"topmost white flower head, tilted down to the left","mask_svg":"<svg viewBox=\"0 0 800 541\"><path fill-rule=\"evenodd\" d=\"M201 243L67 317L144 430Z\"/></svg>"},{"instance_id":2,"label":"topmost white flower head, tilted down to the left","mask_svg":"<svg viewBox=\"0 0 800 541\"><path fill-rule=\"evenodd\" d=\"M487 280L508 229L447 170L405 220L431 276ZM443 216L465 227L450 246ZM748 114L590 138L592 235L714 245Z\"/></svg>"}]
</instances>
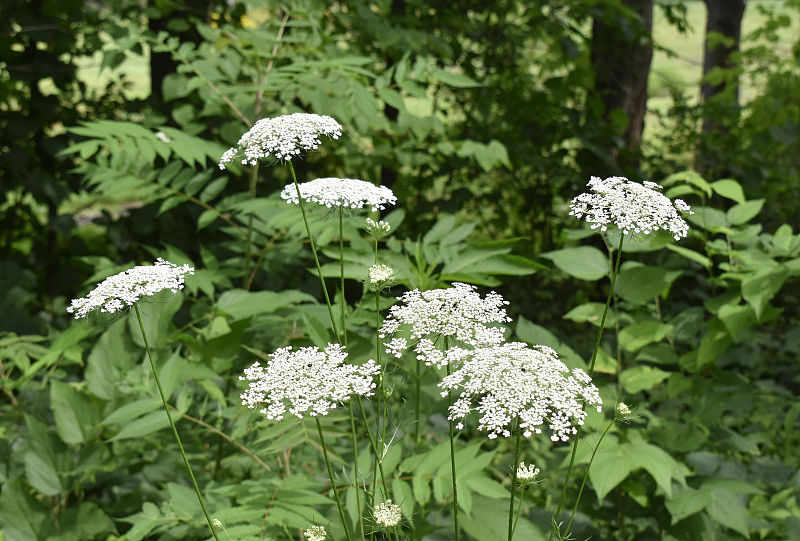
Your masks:
<instances>
[{"instance_id":1,"label":"topmost white flower head, tilted down to the left","mask_svg":"<svg viewBox=\"0 0 800 541\"><path fill-rule=\"evenodd\" d=\"M242 165L255 165L259 159L274 156L278 160L291 160L303 150L315 150L320 136L338 139L342 126L325 115L294 113L276 118L262 118L239 139L239 143L225 151L219 168L243 154Z\"/></svg>"}]
</instances>

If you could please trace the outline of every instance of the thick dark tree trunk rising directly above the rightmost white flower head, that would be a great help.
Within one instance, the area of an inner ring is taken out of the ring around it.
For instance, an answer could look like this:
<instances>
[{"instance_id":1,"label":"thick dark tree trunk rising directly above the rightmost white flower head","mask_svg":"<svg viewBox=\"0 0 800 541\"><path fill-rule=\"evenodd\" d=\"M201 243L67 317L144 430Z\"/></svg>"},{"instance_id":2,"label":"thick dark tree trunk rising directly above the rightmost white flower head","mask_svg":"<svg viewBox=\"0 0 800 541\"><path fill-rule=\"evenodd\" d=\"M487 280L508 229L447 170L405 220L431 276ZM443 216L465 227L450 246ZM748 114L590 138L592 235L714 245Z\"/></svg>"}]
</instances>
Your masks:
<instances>
[{"instance_id":1,"label":"thick dark tree trunk rising directly above the rightmost white flower head","mask_svg":"<svg viewBox=\"0 0 800 541\"><path fill-rule=\"evenodd\" d=\"M614 135L624 149L611 151L612 166L638 166L639 143L647 112L647 77L653 47L653 0L622 0L629 13L600 13L592 23L592 68L595 92L603 104L602 120L612 123L617 110L627 117L624 128ZM626 157L619 150L625 150Z\"/></svg>"}]
</instances>

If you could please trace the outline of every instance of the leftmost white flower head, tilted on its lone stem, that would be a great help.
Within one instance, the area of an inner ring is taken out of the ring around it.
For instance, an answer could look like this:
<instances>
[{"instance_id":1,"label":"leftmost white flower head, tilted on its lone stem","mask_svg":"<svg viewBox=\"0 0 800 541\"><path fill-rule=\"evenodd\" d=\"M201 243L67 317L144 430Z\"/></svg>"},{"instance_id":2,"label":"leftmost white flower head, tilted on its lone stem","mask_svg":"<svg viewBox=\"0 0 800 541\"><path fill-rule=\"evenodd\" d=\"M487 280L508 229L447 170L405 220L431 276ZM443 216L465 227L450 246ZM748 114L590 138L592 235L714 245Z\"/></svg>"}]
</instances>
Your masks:
<instances>
[{"instance_id":1,"label":"leftmost white flower head, tilted on its lone stem","mask_svg":"<svg viewBox=\"0 0 800 541\"><path fill-rule=\"evenodd\" d=\"M177 293L183 289L187 274L194 274L194 268L189 265L179 267L159 257L153 265L141 265L109 276L85 297L73 299L67 312L75 314L75 319L85 317L96 308L113 314L132 306L142 297L165 289Z\"/></svg>"}]
</instances>

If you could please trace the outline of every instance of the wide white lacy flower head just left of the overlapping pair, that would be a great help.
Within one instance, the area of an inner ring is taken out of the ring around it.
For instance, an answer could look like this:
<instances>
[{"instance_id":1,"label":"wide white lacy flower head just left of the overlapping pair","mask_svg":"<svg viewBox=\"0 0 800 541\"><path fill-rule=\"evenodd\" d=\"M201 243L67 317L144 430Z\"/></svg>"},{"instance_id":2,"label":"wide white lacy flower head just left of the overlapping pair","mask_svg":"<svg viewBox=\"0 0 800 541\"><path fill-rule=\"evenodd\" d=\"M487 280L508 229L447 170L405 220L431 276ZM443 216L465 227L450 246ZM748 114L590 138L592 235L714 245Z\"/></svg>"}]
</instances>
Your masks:
<instances>
[{"instance_id":1,"label":"wide white lacy flower head just left of the overlapping pair","mask_svg":"<svg viewBox=\"0 0 800 541\"><path fill-rule=\"evenodd\" d=\"M375 388L373 377L380 367L372 359L361 366L346 364L346 358L340 344L328 344L324 350L305 347L292 351L291 346L278 349L266 366L256 361L244 376L239 376L250 382L240 395L242 404L250 409L261 407L259 412L268 419L280 421L287 403L289 412L302 419L306 414L327 415L337 403L354 394L371 396Z\"/></svg>"}]
</instances>

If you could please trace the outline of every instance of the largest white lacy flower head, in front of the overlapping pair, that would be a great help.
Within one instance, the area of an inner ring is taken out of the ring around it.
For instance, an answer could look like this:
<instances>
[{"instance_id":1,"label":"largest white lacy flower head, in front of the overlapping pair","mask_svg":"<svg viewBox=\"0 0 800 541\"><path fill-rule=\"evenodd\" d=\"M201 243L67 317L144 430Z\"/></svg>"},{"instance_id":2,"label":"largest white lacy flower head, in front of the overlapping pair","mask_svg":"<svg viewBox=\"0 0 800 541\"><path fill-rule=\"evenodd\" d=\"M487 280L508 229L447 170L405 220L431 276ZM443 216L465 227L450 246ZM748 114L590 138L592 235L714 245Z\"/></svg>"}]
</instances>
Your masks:
<instances>
[{"instance_id":1,"label":"largest white lacy flower head, in front of the overlapping pair","mask_svg":"<svg viewBox=\"0 0 800 541\"><path fill-rule=\"evenodd\" d=\"M602 403L586 372L575 368L570 373L551 348L521 342L465 352L461 367L439 387L442 396L461 393L448 416L457 428L464 427L464 418L474 409L481 415L478 430L486 430L489 439L510 436L511 423L518 418L526 438L541 434L546 424L551 440L567 441L577 432L575 425L586 419L583 404L600 411Z\"/></svg>"}]
</instances>

